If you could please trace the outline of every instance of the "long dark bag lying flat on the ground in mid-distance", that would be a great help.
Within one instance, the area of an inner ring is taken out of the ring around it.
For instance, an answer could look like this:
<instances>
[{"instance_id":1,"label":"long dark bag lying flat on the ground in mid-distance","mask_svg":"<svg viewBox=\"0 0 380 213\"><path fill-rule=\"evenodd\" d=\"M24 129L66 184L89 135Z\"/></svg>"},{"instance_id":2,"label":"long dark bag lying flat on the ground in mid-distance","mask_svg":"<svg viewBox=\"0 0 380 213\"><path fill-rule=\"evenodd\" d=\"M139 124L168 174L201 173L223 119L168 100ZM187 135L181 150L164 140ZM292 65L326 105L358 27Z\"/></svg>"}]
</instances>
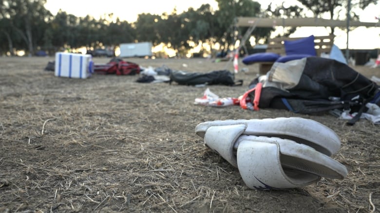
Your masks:
<instances>
[{"instance_id":1,"label":"long dark bag lying flat on the ground in mid-distance","mask_svg":"<svg viewBox=\"0 0 380 213\"><path fill-rule=\"evenodd\" d=\"M209 73L185 72L175 70L170 74L170 83L177 82L182 85L198 85L198 84L222 84L228 86L242 85L243 81L235 82L233 73L228 70L216 70Z\"/></svg>"}]
</instances>

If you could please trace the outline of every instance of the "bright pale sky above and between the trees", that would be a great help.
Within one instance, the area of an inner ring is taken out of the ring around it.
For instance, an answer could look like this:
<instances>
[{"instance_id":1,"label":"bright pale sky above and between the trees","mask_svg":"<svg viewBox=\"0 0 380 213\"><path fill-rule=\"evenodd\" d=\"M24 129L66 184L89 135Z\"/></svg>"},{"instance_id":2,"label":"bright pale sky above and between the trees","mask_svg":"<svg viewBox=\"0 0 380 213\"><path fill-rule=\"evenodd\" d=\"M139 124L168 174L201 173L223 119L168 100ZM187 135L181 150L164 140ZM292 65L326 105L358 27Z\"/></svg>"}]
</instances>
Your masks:
<instances>
[{"instance_id":1,"label":"bright pale sky above and between the trees","mask_svg":"<svg viewBox=\"0 0 380 213\"><path fill-rule=\"evenodd\" d=\"M269 2L271 2L269 0L256 1L262 5L262 8L266 8ZM291 1L292 0L272 0L272 5L281 4L282 2L289 3ZM121 20L134 22L138 14L151 13L161 15L165 12L170 14L174 8L178 13L181 13L187 11L189 7L197 9L206 3L209 3L213 8L217 8L218 6L215 0L47 0L45 7L50 10L53 15L56 15L59 9L75 16L91 15L95 18L113 13L114 16L118 16ZM377 5L371 5L366 8L366 10L361 13L360 19L364 22L376 22L375 16L380 16L380 2ZM292 36L308 36L310 35L310 31L316 36L328 33L325 28L305 28L297 30ZM345 49L347 41L346 33L337 31L335 34L336 45L341 49ZM349 33L349 48L380 48L380 27L372 29L360 27L351 31Z\"/></svg>"}]
</instances>

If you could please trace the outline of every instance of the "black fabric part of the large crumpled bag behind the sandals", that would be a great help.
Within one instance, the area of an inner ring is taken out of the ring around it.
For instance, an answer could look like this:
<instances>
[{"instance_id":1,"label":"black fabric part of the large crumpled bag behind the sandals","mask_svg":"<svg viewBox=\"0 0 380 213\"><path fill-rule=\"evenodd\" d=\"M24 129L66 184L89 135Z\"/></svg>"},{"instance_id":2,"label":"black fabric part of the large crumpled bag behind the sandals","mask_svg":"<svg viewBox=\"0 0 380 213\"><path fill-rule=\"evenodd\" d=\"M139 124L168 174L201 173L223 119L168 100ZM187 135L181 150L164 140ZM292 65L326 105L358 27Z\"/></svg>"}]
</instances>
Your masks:
<instances>
[{"instance_id":1,"label":"black fabric part of the large crumpled bag behind the sandals","mask_svg":"<svg viewBox=\"0 0 380 213\"><path fill-rule=\"evenodd\" d=\"M250 88L258 83L255 79ZM253 100L254 92L248 97ZM259 107L287 109L301 114L328 112L333 109L365 112L365 104L378 103L380 87L351 67L319 57L306 59L299 83L292 89L261 89ZM356 119L349 122L355 123Z\"/></svg>"}]
</instances>

